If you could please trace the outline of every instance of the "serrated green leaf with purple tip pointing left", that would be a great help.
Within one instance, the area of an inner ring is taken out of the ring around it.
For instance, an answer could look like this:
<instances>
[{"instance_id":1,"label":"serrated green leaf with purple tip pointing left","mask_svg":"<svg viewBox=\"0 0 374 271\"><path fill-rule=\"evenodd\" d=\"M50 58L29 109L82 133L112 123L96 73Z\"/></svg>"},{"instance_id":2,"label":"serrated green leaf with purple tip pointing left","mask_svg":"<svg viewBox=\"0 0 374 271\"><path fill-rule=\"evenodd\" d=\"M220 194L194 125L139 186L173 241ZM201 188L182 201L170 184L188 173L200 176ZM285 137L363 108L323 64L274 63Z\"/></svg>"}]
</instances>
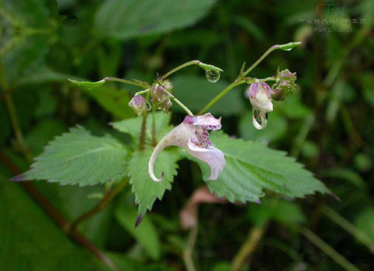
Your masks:
<instances>
[{"instance_id":1,"label":"serrated green leaf with purple tip pointing left","mask_svg":"<svg viewBox=\"0 0 374 271\"><path fill-rule=\"evenodd\" d=\"M21 180L93 185L124 175L127 151L110 136L96 137L77 126L50 142Z\"/></svg>"}]
</instances>

